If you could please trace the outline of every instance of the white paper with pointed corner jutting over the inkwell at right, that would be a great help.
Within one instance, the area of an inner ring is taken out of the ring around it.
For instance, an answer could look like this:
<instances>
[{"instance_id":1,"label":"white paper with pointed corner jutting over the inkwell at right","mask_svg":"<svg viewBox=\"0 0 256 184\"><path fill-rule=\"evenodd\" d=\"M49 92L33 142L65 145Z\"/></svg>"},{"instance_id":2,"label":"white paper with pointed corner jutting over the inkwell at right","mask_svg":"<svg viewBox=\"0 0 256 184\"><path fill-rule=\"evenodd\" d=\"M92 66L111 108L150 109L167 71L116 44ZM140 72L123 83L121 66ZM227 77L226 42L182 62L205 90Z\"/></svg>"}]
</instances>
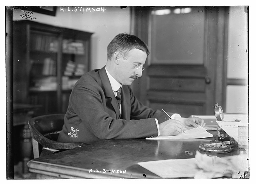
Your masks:
<instances>
[{"instance_id":1,"label":"white paper with pointed corner jutting over the inkwell at right","mask_svg":"<svg viewBox=\"0 0 256 184\"><path fill-rule=\"evenodd\" d=\"M244 122L236 122L236 121L217 121L218 125L231 137L233 137L238 143L238 126L248 126L247 123Z\"/></svg>"}]
</instances>

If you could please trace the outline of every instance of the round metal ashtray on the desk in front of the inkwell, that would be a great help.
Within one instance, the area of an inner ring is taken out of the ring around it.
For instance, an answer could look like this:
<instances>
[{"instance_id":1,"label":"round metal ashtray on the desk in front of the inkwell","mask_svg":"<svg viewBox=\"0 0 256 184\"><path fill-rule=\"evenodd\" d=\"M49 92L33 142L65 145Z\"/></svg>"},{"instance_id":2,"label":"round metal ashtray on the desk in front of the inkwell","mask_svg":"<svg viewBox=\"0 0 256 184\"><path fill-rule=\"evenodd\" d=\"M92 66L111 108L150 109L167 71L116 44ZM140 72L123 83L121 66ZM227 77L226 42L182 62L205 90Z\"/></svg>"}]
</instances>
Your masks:
<instances>
[{"instance_id":1,"label":"round metal ashtray on the desk in front of the inkwell","mask_svg":"<svg viewBox=\"0 0 256 184\"><path fill-rule=\"evenodd\" d=\"M228 153L232 149L227 144L222 143L203 143L199 145L200 150L215 152L215 153Z\"/></svg>"}]
</instances>

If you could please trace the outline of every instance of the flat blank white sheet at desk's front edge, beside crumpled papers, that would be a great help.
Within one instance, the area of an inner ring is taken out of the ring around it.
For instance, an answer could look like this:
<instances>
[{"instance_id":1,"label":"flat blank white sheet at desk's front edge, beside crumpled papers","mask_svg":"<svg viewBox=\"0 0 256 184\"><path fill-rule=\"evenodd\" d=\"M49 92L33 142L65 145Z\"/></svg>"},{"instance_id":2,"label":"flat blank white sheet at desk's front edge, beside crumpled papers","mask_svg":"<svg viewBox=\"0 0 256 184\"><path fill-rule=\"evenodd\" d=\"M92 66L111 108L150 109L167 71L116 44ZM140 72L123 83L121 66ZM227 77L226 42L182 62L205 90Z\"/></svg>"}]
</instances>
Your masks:
<instances>
[{"instance_id":1,"label":"flat blank white sheet at desk's front edge, beside crumpled papers","mask_svg":"<svg viewBox=\"0 0 256 184\"><path fill-rule=\"evenodd\" d=\"M195 158L158 160L138 164L161 178L194 177L197 171Z\"/></svg>"}]
</instances>

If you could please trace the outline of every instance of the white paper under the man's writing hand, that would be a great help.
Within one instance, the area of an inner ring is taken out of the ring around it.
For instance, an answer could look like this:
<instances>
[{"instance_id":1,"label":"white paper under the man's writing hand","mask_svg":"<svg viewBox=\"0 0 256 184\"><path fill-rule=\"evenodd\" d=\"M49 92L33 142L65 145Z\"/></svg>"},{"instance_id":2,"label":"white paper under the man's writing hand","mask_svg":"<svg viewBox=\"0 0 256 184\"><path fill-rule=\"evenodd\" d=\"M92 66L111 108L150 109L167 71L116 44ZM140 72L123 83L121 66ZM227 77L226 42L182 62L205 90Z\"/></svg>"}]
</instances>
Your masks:
<instances>
[{"instance_id":1,"label":"white paper under the man's writing hand","mask_svg":"<svg viewBox=\"0 0 256 184\"><path fill-rule=\"evenodd\" d=\"M185 133L181 133L176 136L158 136L158 137L148 137L146 139L200 139L206 137L212 137L213 135L206 131L207 129L198 126L193 129L184 130Z\"/></svg>"}]
</instances>

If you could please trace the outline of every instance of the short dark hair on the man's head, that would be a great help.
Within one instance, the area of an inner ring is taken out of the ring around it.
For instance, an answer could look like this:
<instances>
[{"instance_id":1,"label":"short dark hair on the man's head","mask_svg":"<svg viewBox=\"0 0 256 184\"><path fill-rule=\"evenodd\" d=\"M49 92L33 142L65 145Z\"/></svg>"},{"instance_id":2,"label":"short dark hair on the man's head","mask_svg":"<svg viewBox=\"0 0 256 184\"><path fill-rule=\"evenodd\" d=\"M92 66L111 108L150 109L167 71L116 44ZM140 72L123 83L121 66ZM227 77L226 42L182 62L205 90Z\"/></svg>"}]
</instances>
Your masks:
<instances>
[{"instance_id":1,"label":"short dark hair on the man's head","mask_svg":"<svg viewBox=\"0 0 256 184\"><path fill-rule=\"evenodd\" d=\"M110 59L116 51L126 56L128 52L134 48L140 49L149 55L148 46L137 36L128 33L119 33L108 44L108 59Z\"/></svg>"}]
</instances>

